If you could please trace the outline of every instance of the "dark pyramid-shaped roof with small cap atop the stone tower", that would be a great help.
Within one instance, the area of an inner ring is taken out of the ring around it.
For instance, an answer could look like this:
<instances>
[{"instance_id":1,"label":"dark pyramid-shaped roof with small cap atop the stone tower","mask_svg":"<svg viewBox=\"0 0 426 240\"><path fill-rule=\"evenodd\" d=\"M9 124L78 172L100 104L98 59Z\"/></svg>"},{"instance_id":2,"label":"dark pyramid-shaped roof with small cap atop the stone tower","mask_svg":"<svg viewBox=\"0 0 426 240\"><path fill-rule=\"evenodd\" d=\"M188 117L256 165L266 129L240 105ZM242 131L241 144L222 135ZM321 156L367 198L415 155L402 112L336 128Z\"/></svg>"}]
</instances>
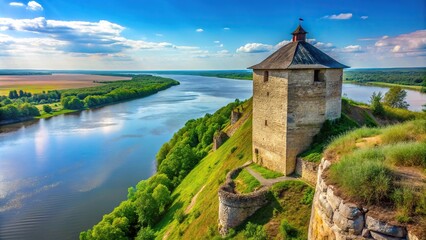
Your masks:
<instances>
[{"instance_id":1,"label":"dark pyramid-shaped roof with small cap atop the stone tower","mask_svg":"<svg viewBox=\"0 0 426 240\"><path fill-rule=\"evenodd\" d=\"M305 30L300 27L299 31ZM296 41L281 47L259 64L249 67L263 70L310 68L348 68L348 66L337 62L308 42Z\"/></svg>"}]
</instances>

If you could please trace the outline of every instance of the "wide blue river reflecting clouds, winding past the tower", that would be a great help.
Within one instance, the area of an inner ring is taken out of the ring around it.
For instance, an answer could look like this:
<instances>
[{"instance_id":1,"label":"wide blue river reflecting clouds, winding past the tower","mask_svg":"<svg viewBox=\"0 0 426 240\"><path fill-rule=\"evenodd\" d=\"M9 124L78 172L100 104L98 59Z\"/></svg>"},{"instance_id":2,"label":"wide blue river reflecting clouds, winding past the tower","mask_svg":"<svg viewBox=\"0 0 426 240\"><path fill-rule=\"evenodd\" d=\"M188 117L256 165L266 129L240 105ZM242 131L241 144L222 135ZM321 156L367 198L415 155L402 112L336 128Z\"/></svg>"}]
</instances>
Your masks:
<instances>
[{"instance_id":1,"label":"wide blue river reflecting clouds, winding past the tower","mask_svg":"<svg viewBox=\"0 0 426 240\"><path fill-rule=\"evenodd\" d=\"M78 238L126 198L128 187L155 172L155 154L187 120L252 95L251 81L167 77L181 85L0 127L0 239ZM343 91L368 102L373 91L386 88L345 84ZM420 95L416 106L425 102Z\"/></svg>"}]
</instances>

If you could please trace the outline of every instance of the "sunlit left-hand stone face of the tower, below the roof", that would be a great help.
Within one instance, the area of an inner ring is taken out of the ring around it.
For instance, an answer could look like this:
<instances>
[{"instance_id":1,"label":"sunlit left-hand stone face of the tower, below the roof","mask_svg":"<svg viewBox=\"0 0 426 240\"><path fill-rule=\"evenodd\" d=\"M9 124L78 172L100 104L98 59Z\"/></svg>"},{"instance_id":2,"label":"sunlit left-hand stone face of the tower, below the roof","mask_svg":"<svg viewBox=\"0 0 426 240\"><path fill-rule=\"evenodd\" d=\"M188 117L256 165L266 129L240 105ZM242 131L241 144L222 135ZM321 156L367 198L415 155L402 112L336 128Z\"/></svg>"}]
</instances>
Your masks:
<instances>
[{"instance_id":1,"label":"sunlit left-hand stone face of the tower, below the roof","mask_svg":"<svg viewBox=\"0 0 426 240\"><path fill-rule=\"evenodd\" d=\"M268 72L253 71L253 161L285 173L289 71Z\"/></svg>"}]
</instances>

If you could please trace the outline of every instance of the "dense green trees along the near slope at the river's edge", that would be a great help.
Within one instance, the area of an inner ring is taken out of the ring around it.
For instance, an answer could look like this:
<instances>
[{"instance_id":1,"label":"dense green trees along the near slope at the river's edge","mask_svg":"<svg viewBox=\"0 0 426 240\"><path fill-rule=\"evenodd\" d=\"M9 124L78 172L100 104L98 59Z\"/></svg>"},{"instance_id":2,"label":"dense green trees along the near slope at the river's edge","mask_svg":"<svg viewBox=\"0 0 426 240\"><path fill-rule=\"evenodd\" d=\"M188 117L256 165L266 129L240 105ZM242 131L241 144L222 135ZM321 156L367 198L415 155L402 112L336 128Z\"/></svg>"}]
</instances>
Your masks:
<instances>
[{"instance_id":1,"label":"dense green trees along the near slope at the river's edge","mask_svg":"<svg viewBox=\"0 0 426 240\"><path fill-rule=\"evenodd\" d=\"M214 114L189 120L157 153L157 173L128 189L127 200L102 221L80 234L80 239L153 239L152 227L166 212L171 192L210 151L213 135L229 123L236 100ZM176 218L183 217L179 212Z\"/></svg>"}]
</instances>

